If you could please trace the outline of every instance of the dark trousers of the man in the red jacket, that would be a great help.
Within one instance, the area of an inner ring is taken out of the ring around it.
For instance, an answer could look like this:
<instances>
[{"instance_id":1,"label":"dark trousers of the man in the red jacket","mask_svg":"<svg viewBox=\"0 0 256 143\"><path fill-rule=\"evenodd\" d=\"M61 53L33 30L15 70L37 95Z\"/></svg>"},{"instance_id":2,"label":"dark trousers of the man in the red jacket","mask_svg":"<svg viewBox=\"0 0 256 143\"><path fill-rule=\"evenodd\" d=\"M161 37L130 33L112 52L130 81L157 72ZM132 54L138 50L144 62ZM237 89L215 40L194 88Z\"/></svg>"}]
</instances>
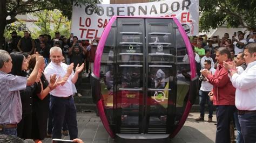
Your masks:
<instances>
[{"instance_id":1,"label":"dark trousers of the man in the red jacket","mask_svg":"<svg viewBox=\"0 0 256 143\"><path fill-rule=\"evenodd\" d=\"M217 105L216 143L230 142L230 121L233 119L235 105Z\"/></svg>"}]
</instances>

